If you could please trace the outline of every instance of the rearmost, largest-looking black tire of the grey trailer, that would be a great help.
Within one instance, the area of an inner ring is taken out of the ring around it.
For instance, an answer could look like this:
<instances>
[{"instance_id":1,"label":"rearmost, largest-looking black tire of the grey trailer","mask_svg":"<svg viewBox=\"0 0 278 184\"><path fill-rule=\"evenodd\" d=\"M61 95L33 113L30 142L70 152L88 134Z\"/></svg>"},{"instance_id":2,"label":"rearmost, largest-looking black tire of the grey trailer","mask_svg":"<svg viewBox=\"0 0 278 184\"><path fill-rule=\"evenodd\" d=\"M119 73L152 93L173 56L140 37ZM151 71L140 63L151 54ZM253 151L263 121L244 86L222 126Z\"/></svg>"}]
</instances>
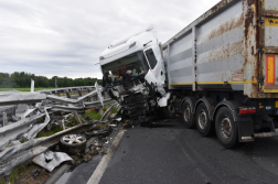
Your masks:
<instances>
[{"instance_id":1,"label":"rearmost, largest-looking black tire of the grey trailer","mask_svg":"<svg viewBox=\"0 0 278 184\"><path fill-rule=\"evenodd\" d=\"M217 111L215 131L223 147L235 148L238 144L237 126L233 119L233 112L227 107L222 107Z\"/></svg>"}]
</instances>

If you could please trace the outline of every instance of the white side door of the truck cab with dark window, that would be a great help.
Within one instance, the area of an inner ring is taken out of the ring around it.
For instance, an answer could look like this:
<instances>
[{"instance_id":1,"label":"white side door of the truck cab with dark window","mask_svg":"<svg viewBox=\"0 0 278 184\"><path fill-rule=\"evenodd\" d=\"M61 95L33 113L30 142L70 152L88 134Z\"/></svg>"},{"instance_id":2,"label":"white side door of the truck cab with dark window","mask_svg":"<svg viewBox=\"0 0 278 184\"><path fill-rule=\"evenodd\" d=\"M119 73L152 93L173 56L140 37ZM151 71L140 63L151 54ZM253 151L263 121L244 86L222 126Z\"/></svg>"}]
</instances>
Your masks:
<instances>
[{"instance_id":1,"label":"white side door of the truck cab with dark window","mask_svg":"<svg viewBox=\"0 0 278 184\"><path fill-rule=\"evenodd\" d=\"M150 65L150 71L146 75L146 80L153 84L163 85L165 82L165 69L159 44L143 51Z\"/></svg>"}]
</instances>

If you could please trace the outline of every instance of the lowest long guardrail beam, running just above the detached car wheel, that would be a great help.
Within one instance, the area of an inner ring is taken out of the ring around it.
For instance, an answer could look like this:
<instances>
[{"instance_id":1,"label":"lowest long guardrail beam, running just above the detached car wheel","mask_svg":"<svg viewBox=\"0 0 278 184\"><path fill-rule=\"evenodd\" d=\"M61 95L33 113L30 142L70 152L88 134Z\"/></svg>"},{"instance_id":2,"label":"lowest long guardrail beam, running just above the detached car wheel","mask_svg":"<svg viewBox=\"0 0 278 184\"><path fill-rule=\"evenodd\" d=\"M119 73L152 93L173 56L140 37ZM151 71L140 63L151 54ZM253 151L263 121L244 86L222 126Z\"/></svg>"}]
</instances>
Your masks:
<instances>
[{"instance_id":1,"label":"lowest long guardrail beam, running just above the detached car wheel","mask_svg":"<svg viewBox=\"0 0 278 184\"><path fill-rule=\"evenodd\" d=\"M78 125L76 127L57 132L51 137L32 139L28 142L7 148L0 152L0 177L9 175L10 172L34 156L45 152L50 147L58 143L60 138L68 133L81 133L86 131L92 123Z\"/></svg>"}]
</instances>

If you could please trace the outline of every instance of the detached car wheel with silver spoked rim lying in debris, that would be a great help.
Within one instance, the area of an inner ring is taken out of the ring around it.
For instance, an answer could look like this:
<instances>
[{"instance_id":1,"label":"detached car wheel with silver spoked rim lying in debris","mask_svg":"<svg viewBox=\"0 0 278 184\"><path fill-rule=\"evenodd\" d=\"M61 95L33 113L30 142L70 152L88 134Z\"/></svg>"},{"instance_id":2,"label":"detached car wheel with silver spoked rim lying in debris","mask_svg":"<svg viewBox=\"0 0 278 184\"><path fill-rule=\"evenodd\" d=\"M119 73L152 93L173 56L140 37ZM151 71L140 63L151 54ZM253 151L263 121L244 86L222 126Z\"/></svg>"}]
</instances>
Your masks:
<instances>
[{"instance_id":1,"label":"detached car wheel with silver spoked rim lying in debris","mask_svg":"<svg viewBox=\"0 0 278 184\"><path fill-rule=\"evenodd\" d=\"M60 139L60 145L63 151L75 154L85 150L86 141L82 134L65 134Z\"/></svg>"}]
</instances>

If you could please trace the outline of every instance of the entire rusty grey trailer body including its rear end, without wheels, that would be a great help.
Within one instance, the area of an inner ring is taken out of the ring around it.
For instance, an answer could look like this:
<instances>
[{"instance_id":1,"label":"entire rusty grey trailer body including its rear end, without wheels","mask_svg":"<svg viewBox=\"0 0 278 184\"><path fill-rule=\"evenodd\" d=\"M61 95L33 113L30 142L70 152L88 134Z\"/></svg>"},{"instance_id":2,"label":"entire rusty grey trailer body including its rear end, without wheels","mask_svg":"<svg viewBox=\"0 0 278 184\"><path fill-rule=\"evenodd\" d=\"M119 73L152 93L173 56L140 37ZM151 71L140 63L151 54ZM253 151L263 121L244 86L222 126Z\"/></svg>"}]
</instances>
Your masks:
<instances>
[{"instance_id":1,"label":"entire rusty grey trailer body including its rear end, without wheels","mask_svg":"<svg viewBox=\"0 0 278 184\"><path fill-rule=\"evenodd\" d=\"M162 47L170 89L278 98L277 0L222 0Z\"/></svg>"}]
</instances>

